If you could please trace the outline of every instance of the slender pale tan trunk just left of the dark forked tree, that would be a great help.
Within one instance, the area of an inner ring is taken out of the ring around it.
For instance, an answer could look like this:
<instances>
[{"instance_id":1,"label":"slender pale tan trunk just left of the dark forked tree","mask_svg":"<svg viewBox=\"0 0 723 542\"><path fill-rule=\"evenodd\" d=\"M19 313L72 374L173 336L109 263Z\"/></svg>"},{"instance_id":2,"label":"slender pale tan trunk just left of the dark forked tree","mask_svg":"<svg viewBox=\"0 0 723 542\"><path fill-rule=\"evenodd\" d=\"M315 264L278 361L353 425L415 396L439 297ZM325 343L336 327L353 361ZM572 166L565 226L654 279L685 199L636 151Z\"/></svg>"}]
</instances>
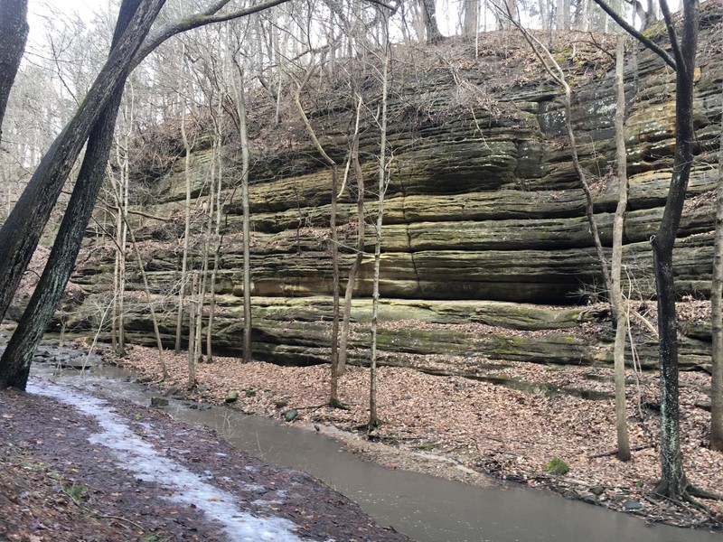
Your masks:
<instances>
[{"instance_id":1,"label":"slender pale tan trunk just left of the dark forked tree","mask_svg":"<svg viewBox=\"0 0 723 542\"><path fill-rule=\"evenodd\" d=\"M617 111L615 113L615 146L617 152L617 208L613 222L613 257L611 266L610 302L615 314L615 427L617 430L617 458L630 460L630 440L627 432L625 413L625 335L627 332L627 311L624 310L621 285L623 263L623 230L627 208L627 152L625 150L625 39L617 36L615 48L615 88L617 89Z\"/></svg>"}]
</instances>

